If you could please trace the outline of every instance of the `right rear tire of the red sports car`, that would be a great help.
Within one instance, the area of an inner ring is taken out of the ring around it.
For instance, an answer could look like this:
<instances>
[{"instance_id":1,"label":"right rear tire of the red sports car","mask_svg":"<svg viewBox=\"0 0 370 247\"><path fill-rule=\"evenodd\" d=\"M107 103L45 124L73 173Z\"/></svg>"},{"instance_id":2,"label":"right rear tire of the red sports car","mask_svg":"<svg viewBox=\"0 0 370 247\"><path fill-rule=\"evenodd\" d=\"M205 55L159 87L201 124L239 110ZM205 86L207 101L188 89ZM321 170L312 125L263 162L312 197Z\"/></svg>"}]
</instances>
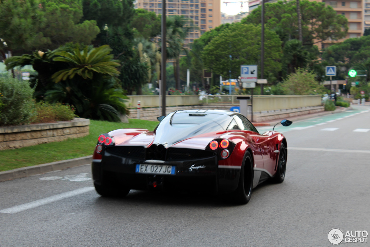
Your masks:
<instances>
[{"instance_id":1,"label":"right rear tire of the red sports car","mask_svg":"<svg viewBox=\"0 0 370 247\"><path fill-rule=\"evenodd\" d=\"M239 184L235 191L235 202L237 204L247 204L252 195L253 188L253 162L252 156L247 152L244 164L240 170Z\"/></svg>"}]
</instances>

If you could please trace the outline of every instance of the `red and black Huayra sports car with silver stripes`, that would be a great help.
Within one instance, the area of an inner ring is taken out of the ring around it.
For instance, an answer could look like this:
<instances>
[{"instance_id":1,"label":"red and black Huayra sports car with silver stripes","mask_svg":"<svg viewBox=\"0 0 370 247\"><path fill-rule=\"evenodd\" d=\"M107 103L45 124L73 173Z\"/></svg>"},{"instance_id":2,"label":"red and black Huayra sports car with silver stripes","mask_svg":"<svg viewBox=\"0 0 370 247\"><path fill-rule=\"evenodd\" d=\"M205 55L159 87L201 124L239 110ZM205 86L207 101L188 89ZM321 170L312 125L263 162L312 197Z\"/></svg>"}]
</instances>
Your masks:
<instances>
[{"instance_id":1,"label":"red and black Huayra sports car with silver stripes","mask_svg":"<svg viewBox=\"0 0 370 247\"><path fill-rule=\"evenodd\" d=\"M232 193L245 204L261 182L285 178L285 137L259 134L240 113L185 110L158 120L154 131L117 129L98 137L92 177L100 195L125 196L131 189Z\"/></svg>"}]
</instances>

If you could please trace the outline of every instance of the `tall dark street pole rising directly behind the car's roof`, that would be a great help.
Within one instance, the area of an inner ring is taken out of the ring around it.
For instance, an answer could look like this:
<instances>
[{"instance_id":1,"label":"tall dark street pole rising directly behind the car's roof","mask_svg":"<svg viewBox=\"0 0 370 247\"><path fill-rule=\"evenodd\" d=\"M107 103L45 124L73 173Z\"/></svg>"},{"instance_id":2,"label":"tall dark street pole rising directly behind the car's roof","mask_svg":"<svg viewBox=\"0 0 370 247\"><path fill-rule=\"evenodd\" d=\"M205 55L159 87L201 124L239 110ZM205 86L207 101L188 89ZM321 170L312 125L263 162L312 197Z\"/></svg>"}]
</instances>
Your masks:
<instances>
[{"instance_id":1,"label":"tall dark street pole rising directly behind the car's roof","mask_svg":"<svg viewBox=\"0 0 370 247\"><path fill-rule=\"evenodd\" d=\"M166 116L166 60L167 60L167 54L166 54L166 0L162 0L162 67L161 67L161 95L162 95L162 116Z\"/></svg>"}]
</instances>

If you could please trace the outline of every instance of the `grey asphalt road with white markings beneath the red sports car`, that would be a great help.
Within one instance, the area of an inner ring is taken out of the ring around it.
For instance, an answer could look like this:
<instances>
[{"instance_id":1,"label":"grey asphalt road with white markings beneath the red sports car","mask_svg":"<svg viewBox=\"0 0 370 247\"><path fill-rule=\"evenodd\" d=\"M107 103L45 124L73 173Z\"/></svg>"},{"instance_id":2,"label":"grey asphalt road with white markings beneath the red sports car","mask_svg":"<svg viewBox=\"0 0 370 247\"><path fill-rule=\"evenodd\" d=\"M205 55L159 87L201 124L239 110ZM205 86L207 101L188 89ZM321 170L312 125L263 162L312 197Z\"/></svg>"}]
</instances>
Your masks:
<instances>
[{"instance_id":1,"label":"grey asphalt road with white markings beneath the red sports car","mask_svg":"<svg viewBox=\"0 0 370 247\"><path fill-rule=\"evenodd\" d=\"M332 228L370 232L369 110L277 127L285 181L260 185L242 206L141 191L102 198L90 165L1 182L0 247L332 246Z\"/></svg>"}]
</instances>

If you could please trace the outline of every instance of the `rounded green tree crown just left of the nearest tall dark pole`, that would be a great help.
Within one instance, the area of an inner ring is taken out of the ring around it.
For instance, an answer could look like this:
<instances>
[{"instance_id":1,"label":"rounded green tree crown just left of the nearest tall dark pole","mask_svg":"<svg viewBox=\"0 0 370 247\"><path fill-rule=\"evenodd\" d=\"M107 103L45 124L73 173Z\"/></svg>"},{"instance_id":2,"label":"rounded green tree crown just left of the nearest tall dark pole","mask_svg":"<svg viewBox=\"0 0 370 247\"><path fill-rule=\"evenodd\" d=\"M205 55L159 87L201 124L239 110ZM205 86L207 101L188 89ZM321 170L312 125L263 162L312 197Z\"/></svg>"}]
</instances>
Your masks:
<instances>
[{"instance_id":1,"label":"rounded green tree crown just left of the nearest tall dark pole","mask_svg":"<svg viewBox=\"0 0 370 247\"><path fill-rule=\"evenodd\" d=\"M131 26L136 30L136 36L151 39L161 33L161 15L146 9L135 9Z\"/></svg>"}]
</instances>

